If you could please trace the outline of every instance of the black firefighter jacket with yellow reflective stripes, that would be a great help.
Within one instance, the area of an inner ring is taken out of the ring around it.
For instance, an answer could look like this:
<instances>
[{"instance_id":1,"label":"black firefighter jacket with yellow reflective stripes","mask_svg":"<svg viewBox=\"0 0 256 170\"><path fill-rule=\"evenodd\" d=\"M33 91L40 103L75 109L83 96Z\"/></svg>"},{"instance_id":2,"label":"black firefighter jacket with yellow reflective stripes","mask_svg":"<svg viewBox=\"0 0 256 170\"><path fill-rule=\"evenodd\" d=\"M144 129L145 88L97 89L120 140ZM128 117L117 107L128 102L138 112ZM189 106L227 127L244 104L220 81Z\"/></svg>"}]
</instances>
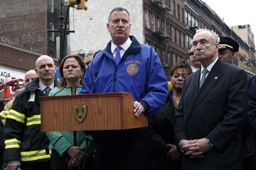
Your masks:
<instances>
[{"instance_id":1,"label":"black firefighter jacket with yellow reflective stripes","mask_svg":"<svg viewBox=\"0 0 256 170\"><path fill-rule=\"evenodd\" d=\"M30 82L25 90L16 96L5 121L5 159L34 163L49 161L51 150L49 139L41 132L39 78ZM54 87L57 80L54 80Z\"/></svg>"}]
</instances>

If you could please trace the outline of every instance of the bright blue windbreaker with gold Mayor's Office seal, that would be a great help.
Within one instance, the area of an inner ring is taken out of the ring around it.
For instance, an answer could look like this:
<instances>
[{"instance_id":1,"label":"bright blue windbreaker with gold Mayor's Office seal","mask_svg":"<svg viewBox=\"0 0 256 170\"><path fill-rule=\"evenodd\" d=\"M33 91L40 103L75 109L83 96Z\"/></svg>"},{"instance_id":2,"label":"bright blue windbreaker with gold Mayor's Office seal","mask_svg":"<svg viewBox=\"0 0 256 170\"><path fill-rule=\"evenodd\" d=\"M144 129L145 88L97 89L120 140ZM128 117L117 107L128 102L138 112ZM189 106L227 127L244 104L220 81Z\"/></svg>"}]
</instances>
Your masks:
<instances>
[{"instance_id":1,"label":"bright blue windbreaker with gold Mayor's Office seal","mask_svg":"<svg viewBox=\"0 0 256 170\"><path fill-rule=\"evenodd\" d=\"M130 92L135 101L142 104L149 118L165 102L168 94L167 80L157 53L152 47L140 44L134 36L131 46L125 51L118 66L111 52L111 41L99 52L86 70L79 94Z\"/></svg>"}]
</instances>

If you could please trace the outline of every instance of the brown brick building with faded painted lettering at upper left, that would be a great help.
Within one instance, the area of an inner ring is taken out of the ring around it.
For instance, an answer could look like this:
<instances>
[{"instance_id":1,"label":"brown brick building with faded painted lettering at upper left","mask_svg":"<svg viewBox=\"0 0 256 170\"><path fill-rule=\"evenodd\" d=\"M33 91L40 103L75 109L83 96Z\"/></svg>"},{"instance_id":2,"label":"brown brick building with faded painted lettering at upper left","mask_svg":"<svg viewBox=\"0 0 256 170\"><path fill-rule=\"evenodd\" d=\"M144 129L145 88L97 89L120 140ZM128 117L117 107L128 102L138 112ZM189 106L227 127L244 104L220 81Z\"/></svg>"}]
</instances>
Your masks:
<instances>
[{"instance_id":1,"label":"brown brick building with faded painted lettering at upper left","mask_svg":"<svg viewBox=\"0 0 256 170\"><path fill-rule=\"evenodd\" d=\"M0 0L0 43L56 58L59 0Z\"/></svg>"}]
</instances>

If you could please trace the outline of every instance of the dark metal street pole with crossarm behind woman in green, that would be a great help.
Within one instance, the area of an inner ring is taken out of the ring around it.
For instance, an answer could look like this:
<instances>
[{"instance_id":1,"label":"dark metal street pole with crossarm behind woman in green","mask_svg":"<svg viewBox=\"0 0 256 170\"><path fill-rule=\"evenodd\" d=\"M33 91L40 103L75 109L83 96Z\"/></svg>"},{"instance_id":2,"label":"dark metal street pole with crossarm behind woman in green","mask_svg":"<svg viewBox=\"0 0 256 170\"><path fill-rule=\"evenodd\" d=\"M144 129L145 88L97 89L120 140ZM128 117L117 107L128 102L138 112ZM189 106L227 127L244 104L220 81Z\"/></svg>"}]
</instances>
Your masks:
<instances>
[{"instance_id":1,"label":"dark metal street pole with crossarm behind woman in green","mask_svg":"<svg viewBox=\"0 0 256 170\"><path fill-rule=\"evenodd\" d=\"M67 21L68 21L68 15L69 15L69 6L67 8L67 13L66 13L66 20L64 22L64 15L63 15L63 8L64 8L64 0L60 0L60 24L59 24L59 29L47 29L47 32L59 32L60 33L60 59L59 59L59 64L61 63L63 56L67 55L67 46L64 47L65 45L65 37L66 37L66 32L75 32L75 31L67 31Z\"/></svg>"}]
</instances>

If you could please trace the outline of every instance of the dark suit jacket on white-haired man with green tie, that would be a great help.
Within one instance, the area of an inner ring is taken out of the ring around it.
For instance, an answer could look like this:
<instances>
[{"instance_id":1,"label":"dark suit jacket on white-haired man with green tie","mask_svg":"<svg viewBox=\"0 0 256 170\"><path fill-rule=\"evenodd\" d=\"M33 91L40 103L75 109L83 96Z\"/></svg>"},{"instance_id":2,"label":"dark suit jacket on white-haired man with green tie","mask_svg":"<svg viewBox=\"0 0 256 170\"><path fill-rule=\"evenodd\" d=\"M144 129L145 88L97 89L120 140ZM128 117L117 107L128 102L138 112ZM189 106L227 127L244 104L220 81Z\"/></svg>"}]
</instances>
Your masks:
<instances>
[{"instance_id":1,"label":"dark suit jacket on white-haired man with green tie","mask_svg":"<svg viewBox=\"0 0 256 170\"><path fill-rule=\"evenodd\" d=\"M182 154L184 170L243 168L241 127L248 108L248 84L243 70L221 60L199 90L201 70L185 78L175 115L177 148L182 139L208 138L213 146L204 158Z\"/></svg>"}]
</instances>

